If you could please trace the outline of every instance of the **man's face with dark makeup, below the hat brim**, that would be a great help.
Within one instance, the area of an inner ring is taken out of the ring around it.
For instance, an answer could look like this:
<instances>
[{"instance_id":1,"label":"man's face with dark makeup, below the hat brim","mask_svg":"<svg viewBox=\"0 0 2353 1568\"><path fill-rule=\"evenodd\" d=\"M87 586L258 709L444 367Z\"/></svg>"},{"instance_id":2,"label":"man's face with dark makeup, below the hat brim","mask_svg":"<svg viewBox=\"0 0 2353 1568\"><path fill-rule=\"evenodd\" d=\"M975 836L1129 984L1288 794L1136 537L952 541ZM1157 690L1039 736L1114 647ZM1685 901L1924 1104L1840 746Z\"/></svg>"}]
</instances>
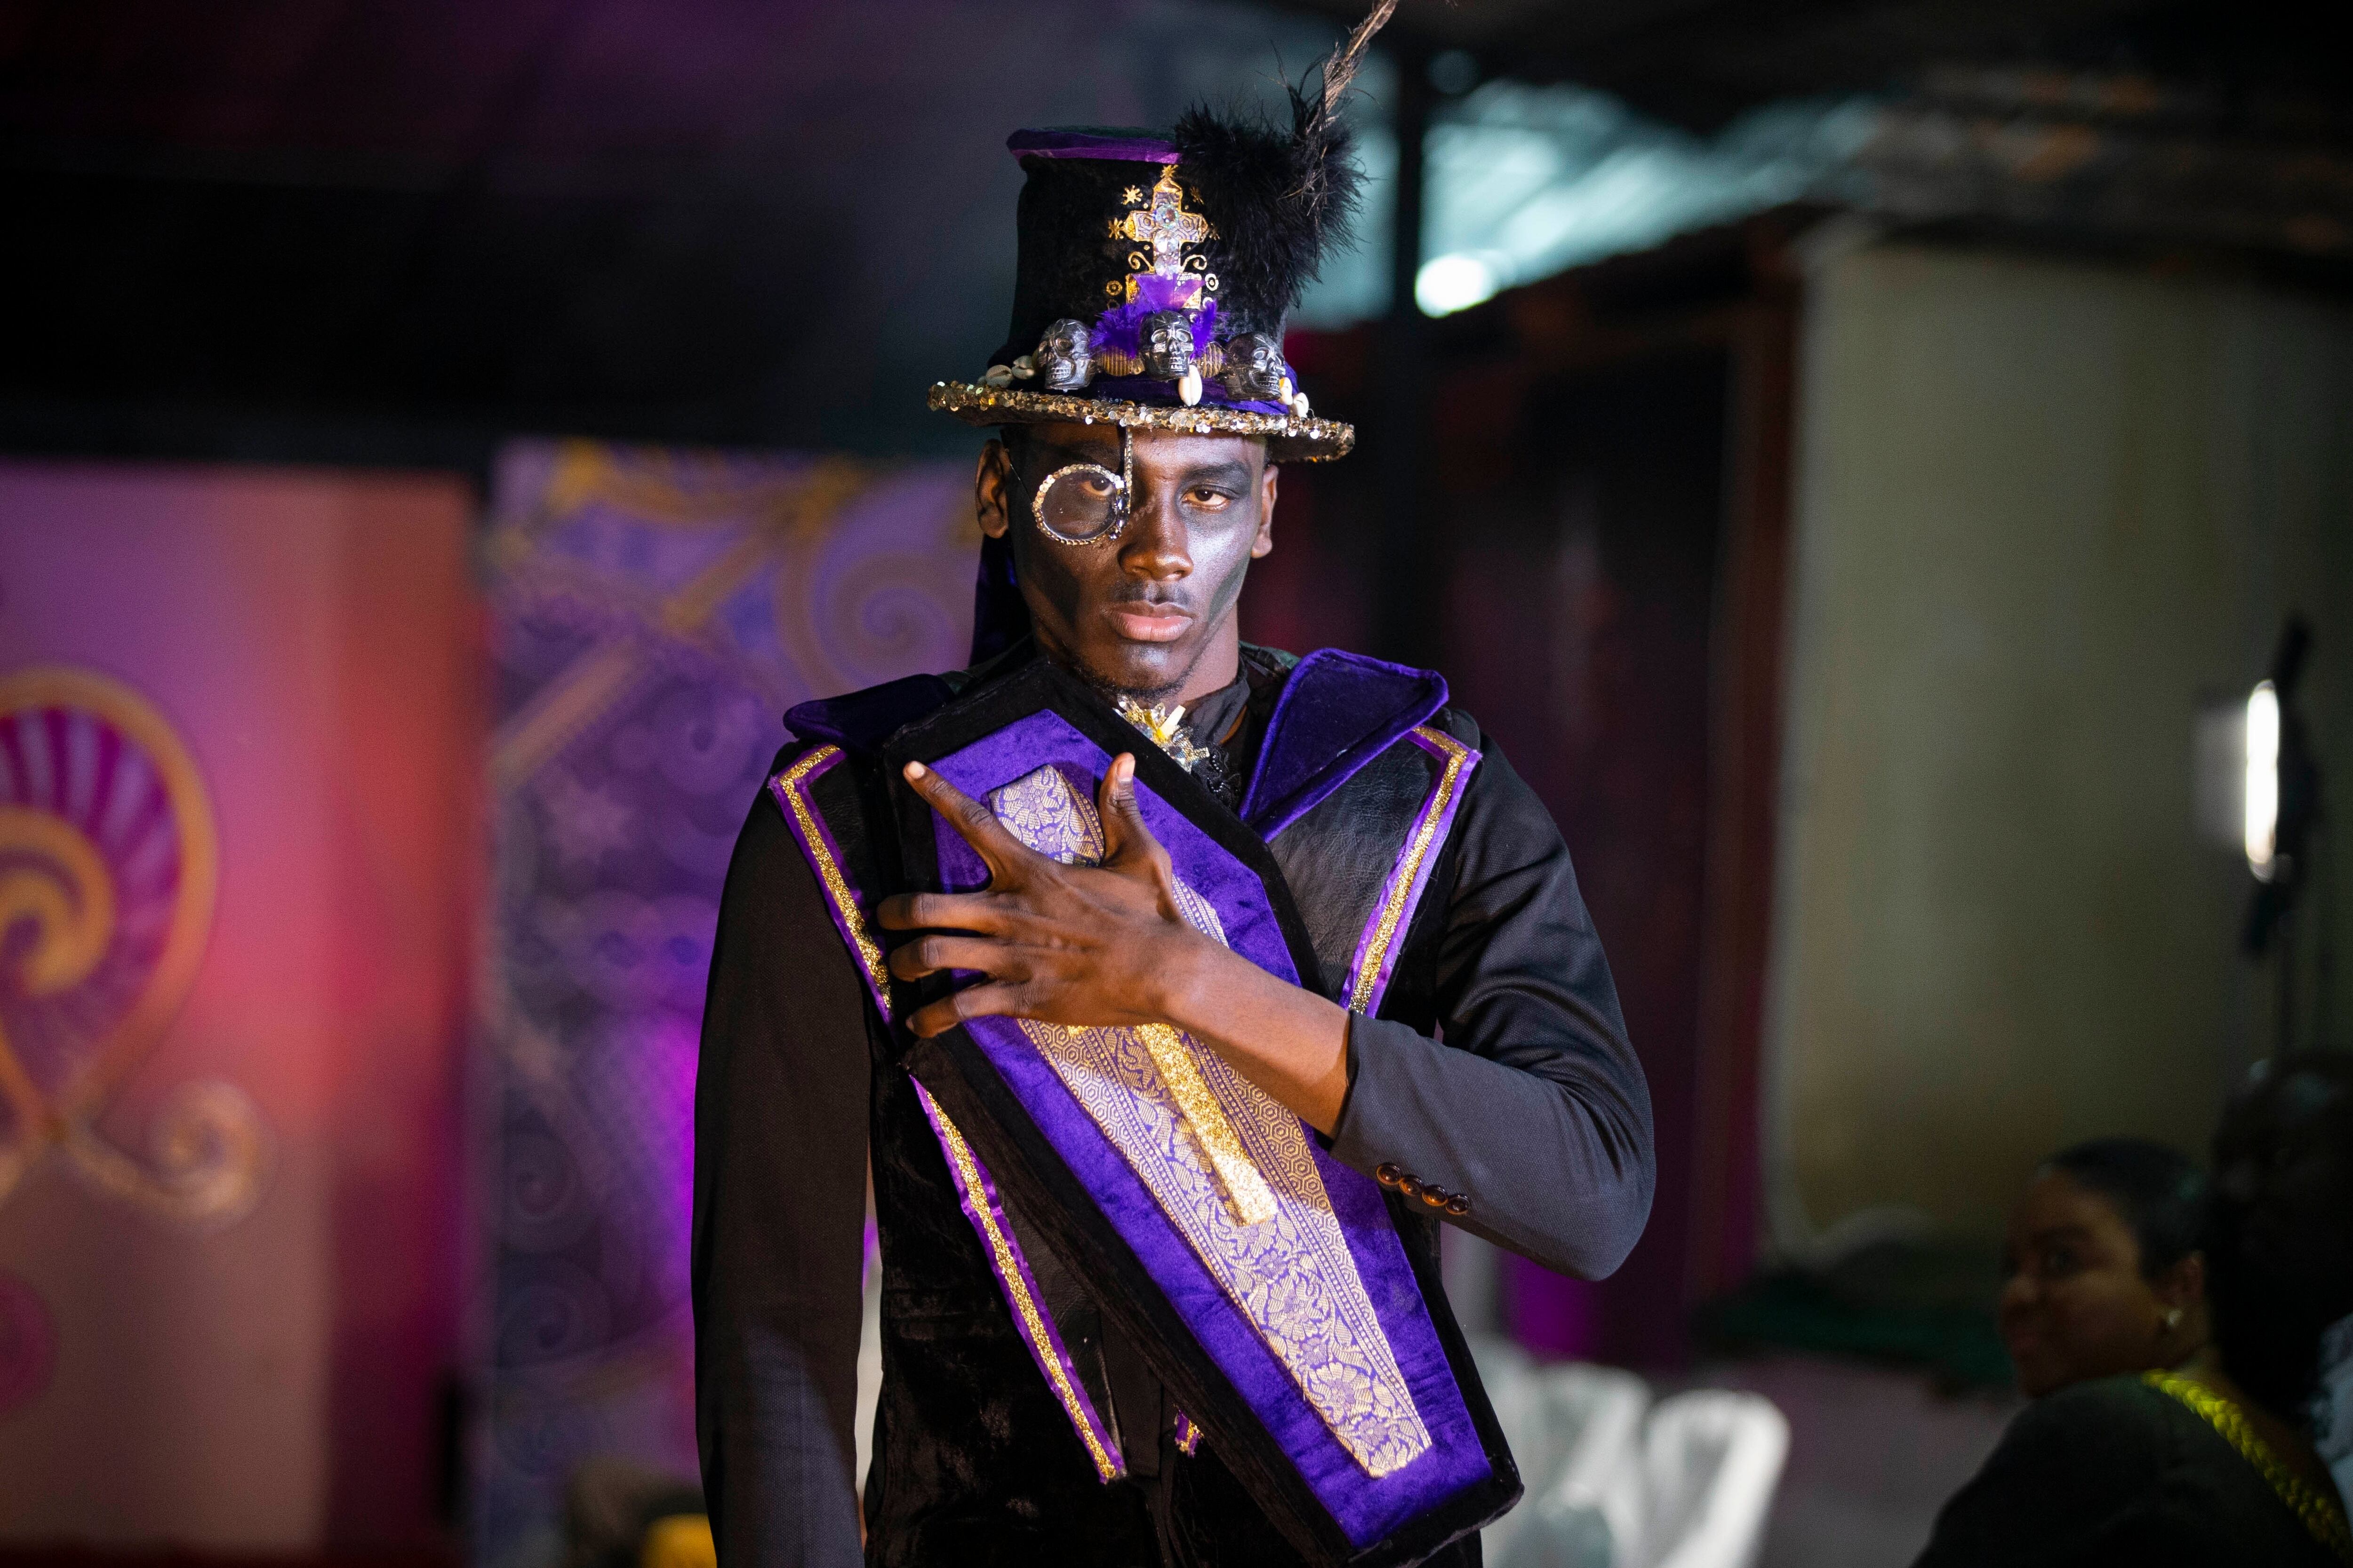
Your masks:
<instances>
[{"instance_id":1,"label":"man's face with dark makeup, below the hat brim","mask_svg":"<svg viewBox=\"0 0 2353 1568\"><path fill-rule=\"evenodd\" d=\"M1012 536L1021 597L1056 663L1115 691L1165 698L1212 646L1231 644L1249 562L1273 550L1275 475L1245 435L1136 430L1127 527L1096 545L1047 538L1038 482L1066 463L1120 473L1113 425L1028 425L1014 463L988 442L981 529Z\"/></svg>"}]
</instances>

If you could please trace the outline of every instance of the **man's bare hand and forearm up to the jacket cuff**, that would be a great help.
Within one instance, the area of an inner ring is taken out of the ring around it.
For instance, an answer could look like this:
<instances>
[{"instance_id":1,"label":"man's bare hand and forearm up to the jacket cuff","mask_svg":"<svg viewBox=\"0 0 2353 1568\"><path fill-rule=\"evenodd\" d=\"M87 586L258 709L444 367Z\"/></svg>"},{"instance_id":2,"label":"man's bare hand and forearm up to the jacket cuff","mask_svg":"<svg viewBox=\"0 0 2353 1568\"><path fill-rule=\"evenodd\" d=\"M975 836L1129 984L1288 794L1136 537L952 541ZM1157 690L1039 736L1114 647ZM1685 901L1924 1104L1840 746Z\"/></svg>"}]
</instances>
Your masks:
<instances>
[{"instance_id":1,"label":"man's bare hand and forearm up to the jacket cuff","mask_svg":"<svg viewBox=\"0 0 2353 1568\"><path fill-rule=\"evenodd\" d=\"M1167 1023L1329 1133L1348 1100L1348 1013L1184 922L1169 856L1144 825L1134 778L1127 752L1104 773L1104 863L1061 865L932 769L906 764L908 785L988 865L979 893L882 900L878 919L887 931L925 931L889 954L894 976L981 976L906 1025L929 1039L986 1016L1071 1027Z\"/></svg>"}]
</instances>

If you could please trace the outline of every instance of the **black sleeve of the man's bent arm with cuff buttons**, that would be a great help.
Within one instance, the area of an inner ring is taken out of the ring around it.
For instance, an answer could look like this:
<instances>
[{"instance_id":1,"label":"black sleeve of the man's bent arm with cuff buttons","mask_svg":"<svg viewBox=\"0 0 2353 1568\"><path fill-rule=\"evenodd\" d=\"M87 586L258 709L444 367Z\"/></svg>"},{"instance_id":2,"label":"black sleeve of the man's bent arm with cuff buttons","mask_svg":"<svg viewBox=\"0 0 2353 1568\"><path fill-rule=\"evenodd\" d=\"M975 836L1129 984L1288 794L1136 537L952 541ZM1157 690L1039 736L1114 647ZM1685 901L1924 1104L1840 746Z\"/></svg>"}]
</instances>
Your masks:
<instances>
[{"instance_id":1,"label":"black sleeve of the man's bent arm with cuff buttons","mask_svg":"<svg viewBox=\"0 0 2353 1568\"><path fill-rule=\"evenodd\" d=\"M1454 1218L1464 1229L1600 1279L1649 1220L1649 1086L1569 846L1487 736L1480 750L1438 936L1445 1044L1353 1018L1332 1150L1457 1192L1471 1204Z\"/></svg>"}]
</instances>

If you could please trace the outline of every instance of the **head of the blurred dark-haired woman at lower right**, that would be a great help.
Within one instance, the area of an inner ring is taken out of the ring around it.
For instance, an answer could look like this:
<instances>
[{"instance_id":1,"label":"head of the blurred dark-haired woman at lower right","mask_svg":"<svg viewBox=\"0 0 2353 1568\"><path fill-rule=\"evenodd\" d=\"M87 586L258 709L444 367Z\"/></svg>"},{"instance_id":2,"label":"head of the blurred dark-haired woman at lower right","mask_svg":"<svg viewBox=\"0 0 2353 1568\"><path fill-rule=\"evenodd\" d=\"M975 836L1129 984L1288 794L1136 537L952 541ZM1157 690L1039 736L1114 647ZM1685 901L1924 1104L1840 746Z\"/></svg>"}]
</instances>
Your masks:
<instances>
[{"instance_id":1,"label":"head of the blurred dark-haired woman at lower right","mask_svg":"<svg viewBox=\"0 0 2353 1568\"><path fill-rule=\"evenodd\" d=\"M2139 1138L2078 1143L2035 1171L2009 1211L2000 1302L2028 1399L2205 1349L2205 1211L2198 1166Z\"/></svg>"}]
</instances>

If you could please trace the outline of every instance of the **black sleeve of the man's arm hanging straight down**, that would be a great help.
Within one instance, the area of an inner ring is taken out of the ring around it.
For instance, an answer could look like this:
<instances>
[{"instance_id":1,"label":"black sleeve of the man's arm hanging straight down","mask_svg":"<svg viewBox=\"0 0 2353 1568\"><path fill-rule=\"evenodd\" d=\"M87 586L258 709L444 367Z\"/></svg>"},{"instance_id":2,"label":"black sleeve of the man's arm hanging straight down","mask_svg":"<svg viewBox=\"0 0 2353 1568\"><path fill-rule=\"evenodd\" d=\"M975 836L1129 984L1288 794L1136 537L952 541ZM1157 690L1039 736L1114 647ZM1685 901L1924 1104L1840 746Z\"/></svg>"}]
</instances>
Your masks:
<instances>
[{"instance_id":1,"label":"black sleeve of the man's arm hanging straight down","mask_svg":"<svg viewBox=\"0 0 2353 1568\"><path fill-rule=\"evenodd\" d=\"M694 1081L694 1425L725 1568L859 1561L866 994L762 790Z\"/></svg>"}]
</instances>

